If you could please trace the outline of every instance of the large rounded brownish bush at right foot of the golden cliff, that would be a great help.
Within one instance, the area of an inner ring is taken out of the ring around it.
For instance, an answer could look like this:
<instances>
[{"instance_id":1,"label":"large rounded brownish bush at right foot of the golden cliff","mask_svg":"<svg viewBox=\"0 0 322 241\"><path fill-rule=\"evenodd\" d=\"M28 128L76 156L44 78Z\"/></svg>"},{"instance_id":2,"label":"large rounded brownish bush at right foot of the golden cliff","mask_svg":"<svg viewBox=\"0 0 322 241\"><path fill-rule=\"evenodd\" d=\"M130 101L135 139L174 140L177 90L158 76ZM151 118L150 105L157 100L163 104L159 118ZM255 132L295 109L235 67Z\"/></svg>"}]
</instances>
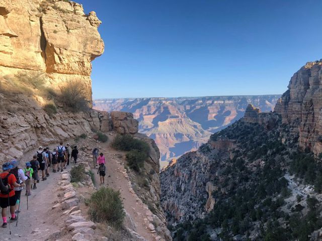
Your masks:
<instances>
[{"instance_id":1,"label":"large rounded brownish bush at right foot of the golden cliff","mask_svg":"<svg viewBox=\"0 0 322 241\"><path fill-rule=\"evenodd\" d=\"M76 81L68 81L65 86L60 87L59 100L65 108L72 112L89 110L89 101L86 98L86 88Z\"/></svg>"}]
</instances>

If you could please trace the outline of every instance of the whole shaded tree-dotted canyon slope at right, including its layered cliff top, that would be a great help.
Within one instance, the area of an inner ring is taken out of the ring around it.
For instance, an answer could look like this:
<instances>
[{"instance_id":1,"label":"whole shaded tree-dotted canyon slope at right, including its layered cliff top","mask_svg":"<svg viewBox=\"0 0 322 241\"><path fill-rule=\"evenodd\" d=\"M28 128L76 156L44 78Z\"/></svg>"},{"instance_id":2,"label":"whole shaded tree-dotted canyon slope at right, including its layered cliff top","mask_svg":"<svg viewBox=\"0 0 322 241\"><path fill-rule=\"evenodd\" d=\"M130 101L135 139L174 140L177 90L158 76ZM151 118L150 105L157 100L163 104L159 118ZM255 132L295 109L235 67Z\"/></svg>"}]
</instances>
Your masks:
<instances>
[{"instance_id":1,"label":"whole shaded tree-dotted canyon slope at right, including its layered cliff top","mask_svg":"<svg viewBox=\"0 0 322 241\"><path fill-rule=\"evenodd\" d=\"M174 240L319 240L322 61L160 174Z\"/></svg>"}]
</instances>

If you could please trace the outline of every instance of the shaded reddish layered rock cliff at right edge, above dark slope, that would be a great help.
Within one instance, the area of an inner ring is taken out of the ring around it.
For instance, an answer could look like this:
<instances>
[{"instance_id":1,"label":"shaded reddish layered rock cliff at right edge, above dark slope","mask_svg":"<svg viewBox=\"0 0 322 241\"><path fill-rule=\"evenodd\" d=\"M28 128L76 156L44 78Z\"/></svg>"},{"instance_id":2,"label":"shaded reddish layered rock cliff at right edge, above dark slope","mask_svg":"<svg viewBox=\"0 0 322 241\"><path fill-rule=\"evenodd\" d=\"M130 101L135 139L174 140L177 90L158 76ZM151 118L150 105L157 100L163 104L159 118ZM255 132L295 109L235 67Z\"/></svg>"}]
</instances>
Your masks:
<instances>
[{"instance_id":1,"label":"shaded reddish layered rock cliff at right edge, above dark slope","mask_svg":"<svg viewBox=\"0 0 322 241\"><path fill-rule=\"evenodd\" d=\"M315 154L322 152L321 79L322 62L307 62L292 76L288 90L275 107L283 123L298 135L299 146Z\"/></svg>"}]
</instances>

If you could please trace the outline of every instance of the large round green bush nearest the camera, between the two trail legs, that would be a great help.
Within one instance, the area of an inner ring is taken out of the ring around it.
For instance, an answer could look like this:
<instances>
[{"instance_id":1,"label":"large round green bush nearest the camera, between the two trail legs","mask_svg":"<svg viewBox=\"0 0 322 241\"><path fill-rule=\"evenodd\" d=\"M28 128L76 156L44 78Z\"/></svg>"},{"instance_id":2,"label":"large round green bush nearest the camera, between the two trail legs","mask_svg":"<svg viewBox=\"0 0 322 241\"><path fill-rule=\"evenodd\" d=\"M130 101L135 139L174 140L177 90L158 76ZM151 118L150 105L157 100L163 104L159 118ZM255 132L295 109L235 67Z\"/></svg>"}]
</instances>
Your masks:
<instances>
[{"instance_id":1,"label":"large round green bush nearest the camera, between the two trail legs","mask_svg":"<svg viewBox=\"0 0 322 241\"><path fill-rule=\"evenodd\" d=\"M120 228L125 212L119 191L108 187L101 187L92 194L89 203L89 213L96 222L108 222L110 225Z\"/></svg>"}]
</instances>

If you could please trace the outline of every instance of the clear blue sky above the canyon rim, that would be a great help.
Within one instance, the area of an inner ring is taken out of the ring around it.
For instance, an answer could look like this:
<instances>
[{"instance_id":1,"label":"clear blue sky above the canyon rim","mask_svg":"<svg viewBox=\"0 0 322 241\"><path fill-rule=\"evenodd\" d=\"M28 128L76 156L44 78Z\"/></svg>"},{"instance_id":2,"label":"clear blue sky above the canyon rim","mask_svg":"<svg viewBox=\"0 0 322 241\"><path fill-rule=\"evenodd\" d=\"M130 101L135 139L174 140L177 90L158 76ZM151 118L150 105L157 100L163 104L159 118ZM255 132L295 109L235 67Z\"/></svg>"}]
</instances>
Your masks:
<instances>
[{"instance_id":1,"label":"clear blue sky above the canyon rim","mask_svg":"<svg viewBox=\"0 0 322 241\"><path fill-rule=\"evenodd\" d=\"M103 22L93 98L282 94L322 58L322 1L76 2Z\"/></svg>"}]
</instances>

